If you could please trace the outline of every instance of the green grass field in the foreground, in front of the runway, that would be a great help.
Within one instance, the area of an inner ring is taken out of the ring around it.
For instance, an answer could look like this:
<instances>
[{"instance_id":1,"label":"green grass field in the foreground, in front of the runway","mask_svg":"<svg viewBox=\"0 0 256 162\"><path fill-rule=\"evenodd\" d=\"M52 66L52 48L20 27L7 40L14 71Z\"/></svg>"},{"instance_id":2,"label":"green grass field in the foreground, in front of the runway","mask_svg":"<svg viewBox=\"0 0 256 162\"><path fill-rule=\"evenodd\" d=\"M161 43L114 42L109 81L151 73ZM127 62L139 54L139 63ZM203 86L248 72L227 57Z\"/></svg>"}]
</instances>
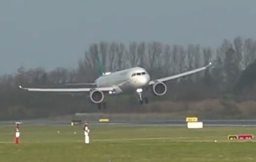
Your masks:
<instances>
[{"instance_id":1,"label":"green grass field in the foreground, in front of the runway","mask_svg":"<svg viewBox=\"0 0 256 162\"><path fill-rule=\"evenodd\" d=\"M252 127L91 125L90 131L86 145L82 126L21 126L16 145L14 126L0 126L0 162L256 162L254 140L227 138L256 134Z\"/></svg>"}]
</instances>

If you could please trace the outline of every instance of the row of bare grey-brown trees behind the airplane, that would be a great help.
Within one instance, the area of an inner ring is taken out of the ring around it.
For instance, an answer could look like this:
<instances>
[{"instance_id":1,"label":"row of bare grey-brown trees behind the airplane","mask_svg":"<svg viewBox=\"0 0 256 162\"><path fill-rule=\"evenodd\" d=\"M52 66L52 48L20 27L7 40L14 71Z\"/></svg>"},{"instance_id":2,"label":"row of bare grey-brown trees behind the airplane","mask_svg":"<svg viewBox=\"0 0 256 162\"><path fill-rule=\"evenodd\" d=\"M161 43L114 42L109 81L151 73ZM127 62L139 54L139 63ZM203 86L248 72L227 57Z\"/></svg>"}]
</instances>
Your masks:
<instances>
[{"instance_id":1,"label":"row of bare grey-brown trees behind the airplane","mask_svg":"<svg viewBox=\"0 0 256 162\"><path fill-rule=\"evenodd\" d=\"M91 44L76 69L20 67L15 74L0 76L0 119L45 117L75 112L96 112L89 103L87 94L27 93L18 90L18 84L34 87L63 87L65 83L93 82L98 76L98 56L104 72L113 72L134 66L146 68L152 79L178 74L213 63L204 72L177 79L168 83L168 94L157 100L192 102L220 99L232 103L254 100L254 88L248 88L240 76L256 59L256 41L236 37L223 40L217 49L190 44L163 44L161 42L99 42ZM250 80L250 77L247 77ZM237 84L239 81L240 84ZM241 83L244 83L241 85ZM250 84L253 86L254 84ZM239 91L239 87L242 87ZM246 90L245 90L246 89ZM236 90L236 91L235 91ZM140 112L155 105L139 106L136 96L108 98L110 112ZM156 100L152 96L152 102ZM122 107L119 107L120 104ZM157 102L158 104L160 102ZM165 102L166 103L166 102ZM124 105L124 106L123 106ZM165 105L168 108L170 105ZM156 106L152 112L161 112ZM226 106L228 109L230 106ZM166 111L164 108L164 111ZM221 109L225 109L225 105ZM202 108L204 110L204 108ZM218 109L218 108L216 108ZM172 108L168 109L170 112ZM227 111L227 110L225 110ZM221 113L221 112L220 112ZM221 114L220 114L221 115Z\"/></svg>"}]
</instances>

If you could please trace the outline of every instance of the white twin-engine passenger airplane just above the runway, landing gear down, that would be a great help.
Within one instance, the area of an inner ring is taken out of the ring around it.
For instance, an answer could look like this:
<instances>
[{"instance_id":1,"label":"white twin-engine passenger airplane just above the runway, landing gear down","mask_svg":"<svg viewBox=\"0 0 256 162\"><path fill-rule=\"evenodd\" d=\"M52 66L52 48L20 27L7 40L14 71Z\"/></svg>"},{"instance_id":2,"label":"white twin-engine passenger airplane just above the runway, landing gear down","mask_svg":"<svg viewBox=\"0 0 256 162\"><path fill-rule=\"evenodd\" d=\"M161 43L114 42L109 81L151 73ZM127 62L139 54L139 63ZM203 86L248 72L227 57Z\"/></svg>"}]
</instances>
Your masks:
<instances>
[{"instance_id":1,"label":"white twin-engine passenger airplane just above the runway, landing gear down","mask_svg":"<svg viewBox=\"0 0 256 162\"><path fill-rule=\"evenodd\" d=\"M152 88L154 95L162 96L167 91L167 86L165 82L180 78L182 76L187 76L206 70L212 63L209 62L206 66L201 68L196 68L187 72L176 74L173 76L167 76L164 78L159 78L156 80L150 80L150 75L148 72L141 67L128 68L125 70L120 70L116 72L101 73L102 76L98 77L94 83L78 83L74 85L94 85L94 88L23 88L19 86L22 90L32 91L32 92L88 92L91 102L98 104L98 109L101 109L101 104L103 103L103 108L106 108L106 102L104 102L104 95L117 95L124 93L138 93L138 100L140 104L144 102L148 103L148 98L142 97L142 92L148 87ZM72 85L72 84L68 84Z\"/></svg>"}]
</instances>

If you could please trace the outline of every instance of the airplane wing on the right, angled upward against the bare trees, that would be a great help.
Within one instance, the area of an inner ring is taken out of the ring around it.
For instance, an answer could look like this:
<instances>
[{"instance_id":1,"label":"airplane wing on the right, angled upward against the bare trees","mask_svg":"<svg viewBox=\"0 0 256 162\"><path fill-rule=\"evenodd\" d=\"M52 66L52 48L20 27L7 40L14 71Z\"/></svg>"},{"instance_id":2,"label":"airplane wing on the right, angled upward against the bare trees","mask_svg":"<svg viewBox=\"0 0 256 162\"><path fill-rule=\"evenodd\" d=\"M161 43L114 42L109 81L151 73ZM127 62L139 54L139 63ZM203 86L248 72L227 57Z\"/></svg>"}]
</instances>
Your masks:
<instances>
[{"instance_id":1,"label":"airplane wing on the right, angled upward against the bare trees","mask_svg":"<svg viewBox=\"0 0 256 162\"><path fill-rule=\"evenodd\" d=\"M165 82L165 81L168 81L168 80L180 78L180 77L182 77L182 76L194 74L194 73L196 73L196 72L200 72L200 71L202 71L202 70L206 70L211 64L212 64L212 63L210 62L208 65L206 65L206 66L204 66L204 67L202 67L202 68L197 68L197 69L190 70L190 71L188 71L188 72L183 72L183 73L180 73L180 74L176 74L176 75L173 75L173 76L167 76L167 77L165 77L165 78L160 78L160 79L156 79L156 80L151 80L148 85L155 84L156 82Z\"/></svg>"}]
</instances>

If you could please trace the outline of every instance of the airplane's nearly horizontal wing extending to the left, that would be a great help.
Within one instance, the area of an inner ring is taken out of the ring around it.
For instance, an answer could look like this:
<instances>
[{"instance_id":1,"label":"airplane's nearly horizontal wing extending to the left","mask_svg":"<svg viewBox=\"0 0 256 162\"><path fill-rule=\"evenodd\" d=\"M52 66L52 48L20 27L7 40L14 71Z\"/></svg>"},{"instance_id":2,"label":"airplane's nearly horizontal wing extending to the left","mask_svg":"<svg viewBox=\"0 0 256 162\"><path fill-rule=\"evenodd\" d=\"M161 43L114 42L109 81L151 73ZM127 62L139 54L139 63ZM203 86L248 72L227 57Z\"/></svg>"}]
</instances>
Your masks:
<instances>
[{"instance_id":1,"label":"airplane's nearly horizontal wing extending to the left","mask_svg":"<svg viewBox=\"0 0 256 162\"><path fill-rule=\"evenodd\" d=\"M113 91L114 87L97 87L97 88L23 88L22 90L33 91L33 92L90 92L90 90L100 91Z\"/></svg>"}]
</instances>

